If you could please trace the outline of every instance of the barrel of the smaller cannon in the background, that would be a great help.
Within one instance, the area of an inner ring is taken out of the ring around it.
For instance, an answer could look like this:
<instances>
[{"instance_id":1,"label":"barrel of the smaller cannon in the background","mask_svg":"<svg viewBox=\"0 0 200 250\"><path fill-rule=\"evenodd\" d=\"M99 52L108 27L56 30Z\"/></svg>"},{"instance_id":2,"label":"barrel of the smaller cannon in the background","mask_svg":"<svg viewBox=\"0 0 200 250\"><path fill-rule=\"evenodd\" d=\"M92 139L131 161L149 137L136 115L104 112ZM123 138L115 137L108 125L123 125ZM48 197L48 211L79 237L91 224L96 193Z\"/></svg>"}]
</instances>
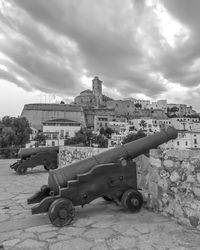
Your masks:
<instances>
[{"instance_id":1,"label":"barrel of the smaller cannon in the background","mask_svg":"<svg viewBox=\"0 0 200 250\"><path fill-rule=\"evenodd\" d=\"M29 157L31 155L35 155L39 152L44 152L44 151L58 151L59 147L58 146L54 146L54 147L38 147L38 148L20 148L18 155L19 157L22 158L26 158Z\"/></svg>"}]
</instances>

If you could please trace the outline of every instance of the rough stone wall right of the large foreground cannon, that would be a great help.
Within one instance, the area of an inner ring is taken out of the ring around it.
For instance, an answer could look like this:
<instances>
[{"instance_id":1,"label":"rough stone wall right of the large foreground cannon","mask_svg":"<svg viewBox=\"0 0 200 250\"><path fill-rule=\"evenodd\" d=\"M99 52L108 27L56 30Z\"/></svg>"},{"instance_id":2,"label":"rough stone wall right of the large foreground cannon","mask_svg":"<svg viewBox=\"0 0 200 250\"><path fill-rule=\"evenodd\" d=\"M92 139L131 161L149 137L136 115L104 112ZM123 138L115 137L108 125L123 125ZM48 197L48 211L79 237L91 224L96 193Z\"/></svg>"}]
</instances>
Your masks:
<instances>
[{"instance_id":1,"label":"rough stone wall right of the large foreground cannon","mask_svg":"<svg viewBox=\"0 0 200 250\"><path fill-rule=\"evenodd\" d=\"M151 150L136 164L145 206L200 229L200 151Z\"/></svg>"}]
</instances>

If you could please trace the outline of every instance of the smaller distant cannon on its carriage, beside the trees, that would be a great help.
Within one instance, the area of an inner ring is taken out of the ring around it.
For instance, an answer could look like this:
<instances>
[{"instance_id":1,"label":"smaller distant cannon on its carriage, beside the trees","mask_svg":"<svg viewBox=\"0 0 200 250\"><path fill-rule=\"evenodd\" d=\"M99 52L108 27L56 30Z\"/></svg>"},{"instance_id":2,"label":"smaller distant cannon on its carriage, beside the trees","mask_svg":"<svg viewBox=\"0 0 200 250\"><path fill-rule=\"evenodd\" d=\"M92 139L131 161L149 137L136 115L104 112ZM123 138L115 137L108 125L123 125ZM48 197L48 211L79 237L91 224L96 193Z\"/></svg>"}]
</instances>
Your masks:
<instances>
[{"instance_id":1,"label":"smaller distant cannon on its carriage, beside the trees","mask_svg":"<svg viewBox=\"0 0 200 250\"><path fill-rule=\"evenodd\" d=\"M25 174L28 168L43 165L45 170L58 167L59 147L21 148L18 152L20 160L10 165L18 174Z\"/></svg>"}]
</instances>

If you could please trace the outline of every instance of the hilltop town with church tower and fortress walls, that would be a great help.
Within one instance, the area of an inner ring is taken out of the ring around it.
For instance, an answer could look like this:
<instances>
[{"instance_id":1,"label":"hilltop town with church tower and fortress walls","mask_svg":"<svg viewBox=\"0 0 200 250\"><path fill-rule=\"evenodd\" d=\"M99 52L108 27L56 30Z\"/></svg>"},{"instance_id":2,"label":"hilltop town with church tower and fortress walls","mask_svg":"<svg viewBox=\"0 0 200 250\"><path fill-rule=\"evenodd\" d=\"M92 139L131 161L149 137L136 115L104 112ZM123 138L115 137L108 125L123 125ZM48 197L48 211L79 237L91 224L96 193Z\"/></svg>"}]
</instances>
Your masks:
<instances>
[{"instance_id":1,"label":"hilltop town with church tower and fortress walls","mask_svg":"<svg viewBox=\"0 0 200 250\"><path fill-rule=\"evenodd\" d=\"M65 139L73 137L82 127L93 133L111 128L109 146L116 146L130 133L142 130L148 135L174 126L179 137L166 147L200 148L199 114L192 106L167 103L167 100L113 100L102 93L102 81L97 76L92 80L92 90L80 92L73 103L26 104L21 116L29 121L32 140L42 131L47 146L64 145Z\"/></svg>"}]
</instances>

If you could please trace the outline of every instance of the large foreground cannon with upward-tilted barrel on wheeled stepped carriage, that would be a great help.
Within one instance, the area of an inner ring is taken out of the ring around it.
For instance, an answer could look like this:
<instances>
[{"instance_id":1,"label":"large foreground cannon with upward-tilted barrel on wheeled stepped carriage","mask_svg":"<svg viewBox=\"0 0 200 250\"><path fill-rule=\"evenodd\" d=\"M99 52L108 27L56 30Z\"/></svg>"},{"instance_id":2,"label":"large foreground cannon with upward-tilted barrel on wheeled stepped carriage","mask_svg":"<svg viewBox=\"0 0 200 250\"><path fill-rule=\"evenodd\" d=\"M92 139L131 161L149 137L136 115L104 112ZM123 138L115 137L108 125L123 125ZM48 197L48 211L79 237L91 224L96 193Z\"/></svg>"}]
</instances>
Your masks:
<instances>
[{"instance_id":1,"label":"large foreground cannon with upward-tilted barrel on wheeled stepped carriage","mask_svg":"<svg viewBox=\"0 0 200 250\"><path fill-rule=\"evenodd\" d=\"M94 155L49 173L48 185L43 185L28 199L32 214L48 212L55 226L69 225L74 206L83 206L103 197L121 204L130 212L137 212L143 196L137 190L136 164L132 160L149 149L175 139L173 127L136 141Z\"/></svg>"}]
</instances>

